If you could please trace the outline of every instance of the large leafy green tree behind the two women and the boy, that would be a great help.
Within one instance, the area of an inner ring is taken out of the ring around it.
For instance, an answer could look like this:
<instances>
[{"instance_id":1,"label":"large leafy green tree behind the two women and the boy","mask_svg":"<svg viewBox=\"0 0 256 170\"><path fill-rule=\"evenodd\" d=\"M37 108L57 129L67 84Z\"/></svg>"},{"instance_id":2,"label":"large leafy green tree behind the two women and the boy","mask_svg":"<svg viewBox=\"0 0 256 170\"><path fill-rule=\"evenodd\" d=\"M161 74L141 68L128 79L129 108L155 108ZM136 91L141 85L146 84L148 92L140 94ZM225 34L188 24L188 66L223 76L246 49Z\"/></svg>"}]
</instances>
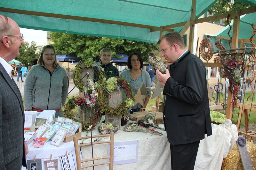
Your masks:
<instances>
[{"instance_id":1,"label":"large leafy green tree behind the two women and the boy","mask_svg":"<svg viewBox=\"0 0 256 170\"><path fill-rule=\"evenodd\" d=\"M112 57L116 57L116 53L129 55L131 52L140 52L143 61L148 61L148 55L158 50L157 44L141 41L56 32L51 32L50 36L57 54L69 54L95 60L99 59L102 48L110 48Z\"/></svg>"}]
</instances>

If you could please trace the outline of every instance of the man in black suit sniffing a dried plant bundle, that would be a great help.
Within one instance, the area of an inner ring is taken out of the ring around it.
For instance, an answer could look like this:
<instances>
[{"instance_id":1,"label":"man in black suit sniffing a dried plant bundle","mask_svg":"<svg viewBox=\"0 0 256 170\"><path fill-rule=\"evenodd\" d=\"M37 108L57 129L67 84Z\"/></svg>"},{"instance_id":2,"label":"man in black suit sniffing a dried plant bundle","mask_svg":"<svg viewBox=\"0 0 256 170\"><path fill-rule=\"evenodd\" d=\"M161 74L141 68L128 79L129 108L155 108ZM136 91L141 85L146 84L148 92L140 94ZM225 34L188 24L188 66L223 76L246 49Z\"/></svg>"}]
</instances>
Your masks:
<instances>
[{"instance_id":1,"label":"man in black suit sniffing a dried plant bundle","mask_svg":"<svg viewBox=\"0 0 256 170\"><path fill-rule=\"evenodd\" d=\"M165 98L164 121L171 147L172 170L192 170L200 140L212 135L206 70L200 58L185 49L179 33L167 33L157 42L170 72L156 75Z\"/></svg>"}]
</instances>

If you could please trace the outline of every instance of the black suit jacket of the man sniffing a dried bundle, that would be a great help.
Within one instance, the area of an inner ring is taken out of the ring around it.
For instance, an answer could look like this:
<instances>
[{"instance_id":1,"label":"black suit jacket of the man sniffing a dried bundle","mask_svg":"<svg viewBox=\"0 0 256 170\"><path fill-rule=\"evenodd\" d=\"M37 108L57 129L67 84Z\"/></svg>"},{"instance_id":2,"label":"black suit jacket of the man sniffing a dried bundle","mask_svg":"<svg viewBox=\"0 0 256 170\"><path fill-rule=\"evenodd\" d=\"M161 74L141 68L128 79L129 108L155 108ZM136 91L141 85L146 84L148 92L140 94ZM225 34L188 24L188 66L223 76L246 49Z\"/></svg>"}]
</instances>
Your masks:
<instances>
[{"instance_id":1,"label":"black suit jacket of the man sniffing a dried bundle","mask_svg":"<svg viewBox=\"0 0 256 170\"><path fill-rule=\"evenodd\" d=\"M188 144L212 135L206 70L189 51L170 66L163 94L165 127L170 144Z\"/></svg>"}]
</instances>

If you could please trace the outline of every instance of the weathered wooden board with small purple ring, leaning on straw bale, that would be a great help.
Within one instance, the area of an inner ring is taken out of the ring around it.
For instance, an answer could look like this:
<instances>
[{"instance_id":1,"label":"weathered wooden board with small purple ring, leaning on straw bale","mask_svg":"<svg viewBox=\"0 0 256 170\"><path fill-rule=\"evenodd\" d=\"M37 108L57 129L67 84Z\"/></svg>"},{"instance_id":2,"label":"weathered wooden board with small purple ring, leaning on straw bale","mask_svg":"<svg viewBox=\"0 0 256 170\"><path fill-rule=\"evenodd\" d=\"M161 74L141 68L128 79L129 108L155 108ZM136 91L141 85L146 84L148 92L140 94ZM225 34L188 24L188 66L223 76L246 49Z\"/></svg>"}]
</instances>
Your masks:
<instances>
[{"instance_id":1,"label":"weathered wooden board with small purple ring, leaning on straw bale","mask_svg":"<svg viewBox=\"0 0 256 170\"><path fill-rule=\"evenodd\" d=\"M243 137L243 136L238 136L238 137ZM249 157L246 146L240 146L240 144L238 144L237 141L236 141L236 144L237 144L237 148L238 148L239 155L240 155L244 169L245 170L253 170L252 162Z\"/></svg>"}]
</instances>

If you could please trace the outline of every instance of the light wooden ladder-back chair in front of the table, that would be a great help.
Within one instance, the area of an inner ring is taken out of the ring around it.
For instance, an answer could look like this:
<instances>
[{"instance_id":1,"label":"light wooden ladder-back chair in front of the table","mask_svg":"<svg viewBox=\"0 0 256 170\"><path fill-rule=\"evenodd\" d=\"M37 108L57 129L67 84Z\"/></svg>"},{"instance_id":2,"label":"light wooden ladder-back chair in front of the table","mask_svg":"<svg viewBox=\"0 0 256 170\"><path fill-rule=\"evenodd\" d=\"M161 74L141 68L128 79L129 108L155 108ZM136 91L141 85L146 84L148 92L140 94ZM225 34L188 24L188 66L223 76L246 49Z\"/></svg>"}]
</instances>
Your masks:
<instances>
[{"instance_id":1,"label":"light wooden ladder-back chair in front of the table","mask_svg":"<svg viewBox=\"0 0 256 170\"><path fill-rule=\"evenodd\" d=\"M110 134L108 134L108 135L94 135L94 136L92 136L92 138L95 138L95 137L110 137L110 139L108 141L97 141L97 142L92 142L92 143L90 142L90 143L86 143L86 144L78 144L78 140L88 139L88 138L91 138L91 136L79 137L79 138L77 138L76 136L73 137L73 141L74 141L74 145L75 145L75 152L76 152L77 170L81 170L83 168L87 168L87 167L91 167L91 166L104 165L104 164L109 164L109 170L113 170L114 132L110 132ZM96 157L96 158L81 160L79 147L87 146L87 145L91 145L91 144L105 144L105 143L110 144L109 156L102 156L102 157ZM94 161L94 160L99 160L99 159L109 159L109 162L106 161L106 162L94 163L94 164L91 164L91 165L81 166L81 163L83 163L83 162Z\"/></svg>"}]
</instances>

